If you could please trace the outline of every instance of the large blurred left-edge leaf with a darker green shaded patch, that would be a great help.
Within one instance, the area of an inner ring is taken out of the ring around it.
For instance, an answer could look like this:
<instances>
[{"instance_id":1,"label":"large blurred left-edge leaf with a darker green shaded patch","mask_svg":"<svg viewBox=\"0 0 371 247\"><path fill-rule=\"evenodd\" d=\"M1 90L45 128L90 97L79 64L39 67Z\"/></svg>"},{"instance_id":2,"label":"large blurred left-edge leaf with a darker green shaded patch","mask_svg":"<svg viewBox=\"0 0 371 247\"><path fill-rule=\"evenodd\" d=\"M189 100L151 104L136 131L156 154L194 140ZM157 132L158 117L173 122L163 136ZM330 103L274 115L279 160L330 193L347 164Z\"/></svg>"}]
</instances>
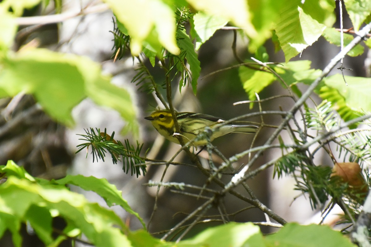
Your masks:
<instances>
[{"instance_id":1,"label":"large blurred left-edge leaf with a darker green shaded patch","mask_svg":"<svg viewBox=\"0 0 371 247\"><path fill-rule=\"evenodd\" d=\"M34 94L50 116L71 125L70 112L84 98L84 79L75 59L46 49L17 53L4 64L0 87L10 96Z\"/></svg>"}]
</instances>

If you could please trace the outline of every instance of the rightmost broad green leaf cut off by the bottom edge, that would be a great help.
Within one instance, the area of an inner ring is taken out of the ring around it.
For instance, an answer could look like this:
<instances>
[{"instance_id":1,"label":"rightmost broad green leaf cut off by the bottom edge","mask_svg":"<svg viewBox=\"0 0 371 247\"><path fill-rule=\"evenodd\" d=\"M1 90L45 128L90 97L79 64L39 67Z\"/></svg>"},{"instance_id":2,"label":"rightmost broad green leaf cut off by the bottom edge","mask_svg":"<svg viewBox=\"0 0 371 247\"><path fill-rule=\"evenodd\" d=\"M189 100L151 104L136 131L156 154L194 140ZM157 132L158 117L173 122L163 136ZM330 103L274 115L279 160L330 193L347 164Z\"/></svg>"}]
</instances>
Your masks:
<instances>
[{"instance_id":1,"label":"rightmost broad green leaf cut off by the bottom edge","mask_svg":"<svg viewBox=\"0 0 371 247\"><path fill-rule=\"evenodd\" d=\"M265 243L285 247L356 247L349 238L328 226L301 226L297 223L288 223L277 233L266 236Z\"/></svg>"}]
</instances>

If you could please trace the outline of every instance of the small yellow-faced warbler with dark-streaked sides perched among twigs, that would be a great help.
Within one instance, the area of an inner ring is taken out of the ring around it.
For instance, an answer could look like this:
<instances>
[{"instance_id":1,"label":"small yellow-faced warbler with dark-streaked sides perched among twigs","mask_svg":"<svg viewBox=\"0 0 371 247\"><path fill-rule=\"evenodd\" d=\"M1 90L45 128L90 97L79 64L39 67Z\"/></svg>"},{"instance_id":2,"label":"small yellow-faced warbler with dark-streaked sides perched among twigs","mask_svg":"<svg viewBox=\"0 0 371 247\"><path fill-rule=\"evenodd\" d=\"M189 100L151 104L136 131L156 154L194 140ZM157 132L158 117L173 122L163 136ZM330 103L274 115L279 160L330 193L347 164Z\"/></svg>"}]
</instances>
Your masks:
<instances>
[{"instance_id":1,"label":"small yellow-faced warbler with dark-streaked sides perched among twigs","mask_svg":"<svg viewBox=\"0 0 371 247\"><path fill-rule=\"evenodd\" d=\"M210 127L213 133L210 136L210 141L217 137L224 136L230 133L256 133L259 127L254 125L237 125L237 124L224 124L224 119L213 117L206 114L192 113L192 112L179 112L175 113L179 124L180 136L183 138L184 143L193 141L193 139L200 134L204 128ZM145 117L150 120L153 127L169 141L180 144L176 133L173 116L170 111L160 110L154 111L151 116ZM206 145L206 138L201 140L194 140L191 145L203 146Z\"/></svg>"}]
</instances>

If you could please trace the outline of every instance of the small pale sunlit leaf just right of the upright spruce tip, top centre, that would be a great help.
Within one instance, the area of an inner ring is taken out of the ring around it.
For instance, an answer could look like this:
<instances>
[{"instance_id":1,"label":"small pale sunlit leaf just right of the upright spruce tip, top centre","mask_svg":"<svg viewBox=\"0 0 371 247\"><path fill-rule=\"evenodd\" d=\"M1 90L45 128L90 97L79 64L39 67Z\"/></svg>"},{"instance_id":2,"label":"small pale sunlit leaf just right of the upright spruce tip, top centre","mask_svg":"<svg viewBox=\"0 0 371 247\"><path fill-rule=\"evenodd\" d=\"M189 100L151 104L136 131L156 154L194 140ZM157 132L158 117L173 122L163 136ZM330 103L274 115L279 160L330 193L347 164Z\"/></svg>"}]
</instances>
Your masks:
<instances>
[{"instance_id":1,"label":"small pale sunlit leaf just right of the upright spruce tip, top centre","mask_svg":"<svg viewBox=\"0 0 371 247\"><path fill-rule=\"evenodd\" d=\"M196 31L196 51L205 43L216 30L224 27L228 21L220 16L210 16L203 12L198 12L193 16L193 28Z\"/></svg>"}]
</instances>

